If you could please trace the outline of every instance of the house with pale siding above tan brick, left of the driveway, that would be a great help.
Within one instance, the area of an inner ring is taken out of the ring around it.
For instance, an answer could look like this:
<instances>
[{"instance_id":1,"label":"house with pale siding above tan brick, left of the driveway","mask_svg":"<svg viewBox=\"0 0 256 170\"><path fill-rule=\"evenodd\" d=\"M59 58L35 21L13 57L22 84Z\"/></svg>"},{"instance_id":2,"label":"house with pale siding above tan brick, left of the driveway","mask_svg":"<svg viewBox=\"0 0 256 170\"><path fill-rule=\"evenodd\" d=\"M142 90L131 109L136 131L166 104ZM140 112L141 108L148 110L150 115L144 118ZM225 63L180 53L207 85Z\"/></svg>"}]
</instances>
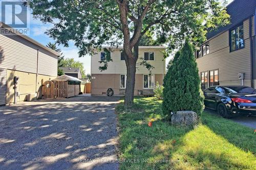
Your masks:
<instances>
[{"instance_id":1,"label":"house with pale siding above tan brick, left of the driveway","mask_svg":"<svg viewBox=\"0 0 256 170\"><path fill-rule=\"evenodd\" d=\"M12 29L0 22L1 30ZM0 30L0 31L1 31ZM59 54L45 45L19 34L0 34L0 105L26 101L28 94L40 98L41 81L57 77ZM14 93L14 77L18 77Z\"/></svg>"}]
</instances>

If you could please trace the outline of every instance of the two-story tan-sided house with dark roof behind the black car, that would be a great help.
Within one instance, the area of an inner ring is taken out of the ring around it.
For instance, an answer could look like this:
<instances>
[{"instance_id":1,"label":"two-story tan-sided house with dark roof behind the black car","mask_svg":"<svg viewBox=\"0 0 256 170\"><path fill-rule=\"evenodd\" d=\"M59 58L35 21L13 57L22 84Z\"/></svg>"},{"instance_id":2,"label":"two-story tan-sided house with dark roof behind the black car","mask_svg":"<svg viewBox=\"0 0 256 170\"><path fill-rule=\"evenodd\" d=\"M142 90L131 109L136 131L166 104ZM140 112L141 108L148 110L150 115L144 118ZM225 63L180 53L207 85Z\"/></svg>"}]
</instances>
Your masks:
<instances>
[{"instance_id":1,"label":"two-story tan-sided house with dark roof behind the black car","mask_svg":"<svg viewBox=\"0 0 256 170\"><path fill-rule=\"evenodd\" d=\"M256 1L227 6L230 24L207 34L196 52L202 89L213 85L256 87Z\"/></svg>"}]
</instances>

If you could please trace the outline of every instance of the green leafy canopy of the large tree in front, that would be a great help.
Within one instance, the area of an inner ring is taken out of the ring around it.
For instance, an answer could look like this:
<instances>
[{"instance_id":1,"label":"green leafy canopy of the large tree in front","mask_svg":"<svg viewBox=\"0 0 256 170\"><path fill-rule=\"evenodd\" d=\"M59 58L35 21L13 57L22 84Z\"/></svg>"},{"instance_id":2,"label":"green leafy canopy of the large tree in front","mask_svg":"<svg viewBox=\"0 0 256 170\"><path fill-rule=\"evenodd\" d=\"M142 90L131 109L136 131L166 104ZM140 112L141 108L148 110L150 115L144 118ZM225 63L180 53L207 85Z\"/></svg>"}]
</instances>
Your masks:
<instances>
[{"instance_id":1,"label":"green leafy canopy of the large tree in front","mask_svg":"<svg viewBox=\"0 0 256 170\"><path fill-rule=\"evenodd\" d=\"M125 24L129 26L131 42L142 22L139 35L147 32L157 37L160 44L168 44L169 49L182 44L184 37L195 44L204 41L208 28L226 25L229 18L219 0L31 0L29 5L34 17L54 24L47 34L65 46L73 40L81 57L102 44L123 43L124 25L118 7L121 3L126 3Z\"/></svg>"}]
</instances>

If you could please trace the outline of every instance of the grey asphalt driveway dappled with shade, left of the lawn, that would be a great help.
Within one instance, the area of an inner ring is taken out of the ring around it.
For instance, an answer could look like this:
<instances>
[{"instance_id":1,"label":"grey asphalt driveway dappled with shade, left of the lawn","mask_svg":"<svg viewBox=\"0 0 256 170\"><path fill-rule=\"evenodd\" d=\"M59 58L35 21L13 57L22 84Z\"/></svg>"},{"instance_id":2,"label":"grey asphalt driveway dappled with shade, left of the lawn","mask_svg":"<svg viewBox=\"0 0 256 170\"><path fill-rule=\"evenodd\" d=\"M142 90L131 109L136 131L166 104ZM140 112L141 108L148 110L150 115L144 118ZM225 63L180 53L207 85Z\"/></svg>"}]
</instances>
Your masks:
<instances>
[{"instance_id":1,"label":"grey asphalt driveway dappled with shade, left of the lawn","mask_svg":"<svg viewBox=\"0 0 256 170\"><path fill-rule=\"evenodd\" d=\"M118 97L0 107L0 169L118 169Z\"/></svg>"}]
</instances>

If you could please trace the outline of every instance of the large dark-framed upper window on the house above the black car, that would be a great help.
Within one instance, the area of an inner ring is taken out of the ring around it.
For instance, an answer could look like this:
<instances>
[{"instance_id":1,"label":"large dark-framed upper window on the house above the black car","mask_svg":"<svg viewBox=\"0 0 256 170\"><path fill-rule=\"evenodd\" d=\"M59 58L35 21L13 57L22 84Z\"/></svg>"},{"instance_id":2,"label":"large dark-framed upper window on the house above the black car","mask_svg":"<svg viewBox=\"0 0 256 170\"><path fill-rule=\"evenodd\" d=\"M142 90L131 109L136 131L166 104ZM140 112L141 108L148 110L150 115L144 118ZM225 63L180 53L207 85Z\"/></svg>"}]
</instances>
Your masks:
<instances>
[{"instance_id":1,"label":"large dark-framed upper window on the house above the black car","mask_svg":"<svg viewBox=\"0 0 256 170\"><path fill-rule=\"evenodd\" d=\"M244 26L238 26L231 29L230 35L230 52L244 48Z\"/></svg>"}]
</instances>

